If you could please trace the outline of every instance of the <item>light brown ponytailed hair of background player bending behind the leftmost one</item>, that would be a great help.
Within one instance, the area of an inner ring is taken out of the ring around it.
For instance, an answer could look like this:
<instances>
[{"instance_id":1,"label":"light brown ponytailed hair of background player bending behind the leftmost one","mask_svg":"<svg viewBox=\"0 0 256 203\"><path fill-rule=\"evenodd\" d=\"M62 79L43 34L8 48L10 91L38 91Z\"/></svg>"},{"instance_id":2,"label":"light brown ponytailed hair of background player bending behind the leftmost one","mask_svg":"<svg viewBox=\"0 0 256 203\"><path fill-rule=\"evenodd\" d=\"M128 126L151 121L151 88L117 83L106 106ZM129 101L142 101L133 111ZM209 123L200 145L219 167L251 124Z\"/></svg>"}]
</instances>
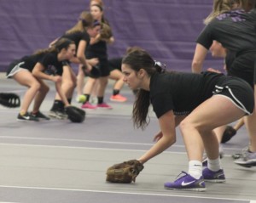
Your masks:
<instances>
[{"instance_id":1,"label":"light brown ponytailed hair of background player bending behind the leftmost one","mask_svg":"<svg viewBox=\"0 0 256 203\"><path fill-rule=\"evenodd\" d=\"M79 21L71 29L66 31L67 34L76 32L76 31L86 31L88 27L92 27L94 23L93 17L90 12L83 11L79 15Z\"/></svg>"}]
</instances>

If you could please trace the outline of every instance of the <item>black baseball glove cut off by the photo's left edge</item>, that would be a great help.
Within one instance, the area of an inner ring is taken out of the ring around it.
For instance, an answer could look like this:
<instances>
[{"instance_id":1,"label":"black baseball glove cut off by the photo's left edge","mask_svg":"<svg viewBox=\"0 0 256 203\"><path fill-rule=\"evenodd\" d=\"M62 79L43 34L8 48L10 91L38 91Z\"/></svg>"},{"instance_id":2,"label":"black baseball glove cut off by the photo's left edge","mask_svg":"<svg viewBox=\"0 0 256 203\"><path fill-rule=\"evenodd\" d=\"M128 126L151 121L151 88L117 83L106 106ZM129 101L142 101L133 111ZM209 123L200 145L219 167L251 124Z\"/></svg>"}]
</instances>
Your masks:
<instances>
[{"instance_id":1,"label":"black baseball glove cut off by the photo's left edge","mask_svg":"<svg viewBox=\"0 0 256 203\"><path fill-rule=\"evenodd\" d=\"M0 104L9 108L20 106L20 97L15 93L0 93Z\"/></svg>"}]
</instances>

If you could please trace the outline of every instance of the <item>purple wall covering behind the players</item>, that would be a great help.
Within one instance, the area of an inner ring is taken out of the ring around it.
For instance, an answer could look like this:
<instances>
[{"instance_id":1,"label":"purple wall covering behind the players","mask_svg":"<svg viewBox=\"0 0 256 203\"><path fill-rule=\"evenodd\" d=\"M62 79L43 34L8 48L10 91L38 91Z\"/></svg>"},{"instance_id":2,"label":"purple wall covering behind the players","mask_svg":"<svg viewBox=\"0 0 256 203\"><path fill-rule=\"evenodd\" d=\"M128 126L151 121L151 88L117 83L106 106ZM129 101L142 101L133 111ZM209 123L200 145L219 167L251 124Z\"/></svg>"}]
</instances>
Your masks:
<instances>
[{"instance_id":1,"label":"purple wall covering behind the players","mask_svg":"<svg viewBox=\"0 0 256 203\"><path fill-rule=\"evenodd\" d=\"M140 46L169 69L190 71L195 38L210 13L209 0L103 0L115 42L109 57ZM73 26L89 0L1 0L0 70ZM220 59L207 57L206 67L222 69Z\"/></svg>"}]
</instances>

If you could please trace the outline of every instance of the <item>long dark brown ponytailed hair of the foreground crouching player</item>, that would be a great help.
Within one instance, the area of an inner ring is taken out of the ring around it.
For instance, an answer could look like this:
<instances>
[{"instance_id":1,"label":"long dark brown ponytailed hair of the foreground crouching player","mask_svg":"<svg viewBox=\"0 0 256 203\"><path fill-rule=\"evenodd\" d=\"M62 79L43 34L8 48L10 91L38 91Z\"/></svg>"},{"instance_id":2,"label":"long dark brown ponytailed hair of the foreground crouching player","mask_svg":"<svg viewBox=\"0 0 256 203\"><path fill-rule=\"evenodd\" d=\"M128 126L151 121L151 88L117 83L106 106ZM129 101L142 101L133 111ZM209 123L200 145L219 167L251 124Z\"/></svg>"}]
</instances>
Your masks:
<instances>
[{"instance_id":1,"label":"long dark brown ponytailed hair of the foreground crouching player","mask_svg":"<svg viewBox=\"0 0 256 203\"><path fill-rule=\"evenodd\" d=\"M127 50L127 54L122 59L122 64L130 65L131 69L136 72L140 69L144 69L148 73L148 76L152 76L155 72L163 72L163 68L158 62L154 61L145 50L137 47L134 49L129 48L129 50ZM139 89L132 110L134 127L144 129L148 126L150 121L148 117L149 105L149 92Z\"/></svg>"}]
</instances>

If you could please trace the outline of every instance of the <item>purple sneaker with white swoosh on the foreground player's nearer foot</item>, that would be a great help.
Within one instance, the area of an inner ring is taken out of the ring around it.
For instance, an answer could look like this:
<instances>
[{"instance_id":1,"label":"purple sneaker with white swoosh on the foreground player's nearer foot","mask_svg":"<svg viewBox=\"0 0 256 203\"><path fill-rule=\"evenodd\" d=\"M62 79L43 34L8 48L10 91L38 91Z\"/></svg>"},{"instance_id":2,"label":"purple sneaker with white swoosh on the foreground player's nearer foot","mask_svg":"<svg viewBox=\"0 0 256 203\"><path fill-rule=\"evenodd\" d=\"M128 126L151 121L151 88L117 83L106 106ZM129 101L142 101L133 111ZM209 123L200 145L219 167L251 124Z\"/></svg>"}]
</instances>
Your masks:
<instances>
[{"instance_id":1,"label":"purple sneaker with white swoosh on the foreground player's nearer foot","mask_svg":"<svg viewBox=\"0 0 256 203\"><path fill-rule=\"evenodd\" d=\"M173 183L165 183L166 189L180 189L180 190L192 190L192 191L205 191L206 184L204 178L195 179L191 177L187 172L181 172L180 175L184 174L181 178L177 178Z\"/></svg>"}]
</instances>

